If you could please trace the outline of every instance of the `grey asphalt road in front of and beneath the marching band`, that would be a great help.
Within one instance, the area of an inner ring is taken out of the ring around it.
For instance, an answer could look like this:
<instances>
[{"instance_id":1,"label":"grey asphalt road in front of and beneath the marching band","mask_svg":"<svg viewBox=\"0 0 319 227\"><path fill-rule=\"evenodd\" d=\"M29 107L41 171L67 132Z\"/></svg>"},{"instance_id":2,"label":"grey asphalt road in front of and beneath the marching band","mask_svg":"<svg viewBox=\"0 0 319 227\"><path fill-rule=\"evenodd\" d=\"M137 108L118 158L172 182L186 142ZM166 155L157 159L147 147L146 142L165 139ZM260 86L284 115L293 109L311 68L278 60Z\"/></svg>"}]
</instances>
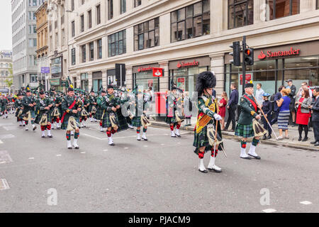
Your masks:
<instances>
[{"instance_id":1,"label":"grey asphalt road in front of and beneath the marching band","mask_svg":"<svg viewBox=\"0 0 319 227\"><path fill-rule=\"evenodd\" d=\"M216 161L223 172L203 174L189 131L171 138L151 127L149 141L123 131L112 147L98 123L87 122L80 149L68 150L65 131L40 138L40 127L24 131L9 117L0 118L0 212L319 211L315 151L261 144L262 160L243 160L240 143L224 140L228 157Z\"/></svg>"}]
</instances>

